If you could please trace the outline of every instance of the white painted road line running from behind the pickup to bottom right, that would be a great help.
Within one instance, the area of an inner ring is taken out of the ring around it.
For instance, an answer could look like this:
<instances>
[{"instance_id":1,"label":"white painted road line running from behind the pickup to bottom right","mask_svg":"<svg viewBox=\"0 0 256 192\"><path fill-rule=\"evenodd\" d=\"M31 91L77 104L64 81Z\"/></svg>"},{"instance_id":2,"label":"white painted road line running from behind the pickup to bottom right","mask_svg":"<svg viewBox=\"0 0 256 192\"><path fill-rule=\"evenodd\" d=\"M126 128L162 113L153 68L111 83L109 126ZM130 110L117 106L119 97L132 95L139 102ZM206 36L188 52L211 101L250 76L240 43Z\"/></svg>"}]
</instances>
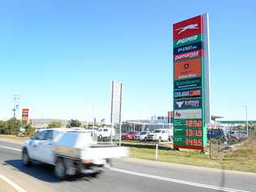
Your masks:
<instances>
[{"instance_id":1,"label":"white painted road line running from behind the pickup to bottom right","mask_svg":"<svg viewBox=\"0 0 256 192\"><path fill-rule=\"evenodd\" d=\"M175 182L175 183L179 183L179 184L183 184L183 185L187 185L187 186L203 187L203 188L207 188L207 189L211 189L211 190L220 190L220 191L227 191L227 192L249 192L248 190L236 190L236 189L226 188L226 187L221 187L221 186L211 186L211 185L206 185L206 184L196 183L196 182L191 182L191 181L182 181L182 180L177 180L177 179L168 178L168 177L159 177L159 176L149 175L149 174L145 174L145 173L127 171L124 169L110 168L110 170L119 172L119 173L136 175L136 176L140 176L140 177L148 177L148 178L157 179L157 180L161 180L161 181Z\"/></svg>"}]
</instances>

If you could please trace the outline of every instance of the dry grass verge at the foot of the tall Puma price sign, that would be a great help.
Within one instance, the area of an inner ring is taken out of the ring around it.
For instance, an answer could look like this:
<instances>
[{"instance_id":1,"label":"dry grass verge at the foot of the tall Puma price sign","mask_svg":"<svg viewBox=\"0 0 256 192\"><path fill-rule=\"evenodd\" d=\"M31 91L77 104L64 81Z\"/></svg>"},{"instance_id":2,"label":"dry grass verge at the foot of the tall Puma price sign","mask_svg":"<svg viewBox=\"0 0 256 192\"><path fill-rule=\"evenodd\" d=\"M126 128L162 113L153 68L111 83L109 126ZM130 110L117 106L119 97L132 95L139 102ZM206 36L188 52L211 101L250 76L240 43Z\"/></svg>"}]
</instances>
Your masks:
<instances>
[{"instance_id":1,"label":"dry grass verge at the foot of the tall Puma price sign","mask_svg":"<svg viewBox=\"0 0 256 192\"><path fill-rule=\"evenodd\" d=\"M141 143L124 143L130 147L130 156L156 160L156 146L146 146ZM244 143L237 144L233 149L220 152L220 155L210 159L200 151L173 151L170 147L159 149L158 160L177 164L189 164L215 169L228 169L256 173L256 139L247 139Z\"/></svg>"}]
</instances>

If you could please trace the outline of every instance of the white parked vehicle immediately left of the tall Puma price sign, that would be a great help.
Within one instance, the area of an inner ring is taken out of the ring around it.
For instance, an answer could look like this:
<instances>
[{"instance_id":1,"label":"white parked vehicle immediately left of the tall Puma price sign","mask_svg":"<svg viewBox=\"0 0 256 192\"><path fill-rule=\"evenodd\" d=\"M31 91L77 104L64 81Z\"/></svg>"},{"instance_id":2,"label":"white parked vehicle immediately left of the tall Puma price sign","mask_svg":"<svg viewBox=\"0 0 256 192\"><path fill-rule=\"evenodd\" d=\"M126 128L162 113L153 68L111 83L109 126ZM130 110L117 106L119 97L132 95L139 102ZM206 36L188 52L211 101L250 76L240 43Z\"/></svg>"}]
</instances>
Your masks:
<instances>
[{"instance_id":1,"label":"white parked vehicle immediately left of the tall Puma price sign","mask_svg":"<svg viewBox=\"0 0 256 192\"><path fill-rule=\"evenodd\" d=\"M156 129L150 134L147 134L147 140L153 141L157 140L159 142L161 141L169 141L170 137L172 137L172 130L169 129Z\"/></svg>"}]
</instances>

